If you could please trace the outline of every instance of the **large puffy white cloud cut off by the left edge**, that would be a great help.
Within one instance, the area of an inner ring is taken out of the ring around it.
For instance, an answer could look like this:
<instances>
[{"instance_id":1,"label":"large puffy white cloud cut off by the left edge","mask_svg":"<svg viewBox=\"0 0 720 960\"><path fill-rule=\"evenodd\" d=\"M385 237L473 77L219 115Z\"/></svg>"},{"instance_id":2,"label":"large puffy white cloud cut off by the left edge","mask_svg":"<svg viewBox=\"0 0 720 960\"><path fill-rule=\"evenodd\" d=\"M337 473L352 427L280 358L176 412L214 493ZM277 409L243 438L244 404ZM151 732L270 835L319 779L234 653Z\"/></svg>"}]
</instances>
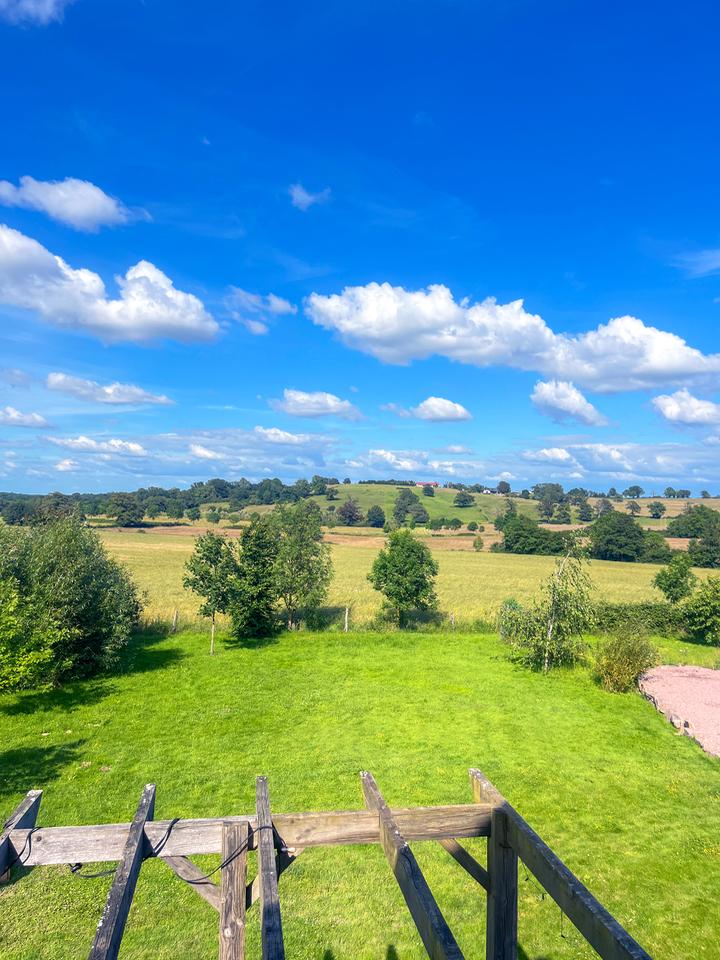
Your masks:
<instances>
[{"instance_id":1,"label":"large puffy white cloud cut off by the left edge","mask_svg":"<svg viewBox=\"0 0 720 960\"><path fill-rule=\"evenodd\" d=\"M217 322L191 293L177 290L147 260L116 277L117 299L91 270L70 267L36 240L0 224L0 303L105 341L210 340Z\"/></svg>"}]
</instances>

